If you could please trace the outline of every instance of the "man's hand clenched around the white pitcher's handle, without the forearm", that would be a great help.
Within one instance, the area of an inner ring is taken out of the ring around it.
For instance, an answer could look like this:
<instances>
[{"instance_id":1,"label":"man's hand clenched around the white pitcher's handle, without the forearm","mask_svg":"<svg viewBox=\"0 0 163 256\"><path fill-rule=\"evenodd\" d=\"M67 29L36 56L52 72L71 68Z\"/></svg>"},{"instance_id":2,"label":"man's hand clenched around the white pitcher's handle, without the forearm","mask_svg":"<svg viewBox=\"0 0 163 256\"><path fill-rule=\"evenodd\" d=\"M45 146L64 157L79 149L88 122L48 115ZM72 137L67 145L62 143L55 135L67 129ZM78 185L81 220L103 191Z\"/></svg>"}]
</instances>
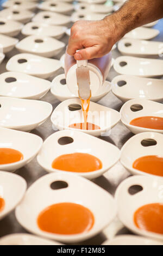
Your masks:
<instances>
[{"instance_id":1,"label":"man's hand clenched around the white pitcher's handle, without the forearm","mask_svg":"<svg viewBox=\"0 0 163 256\"><path fill-rule=\"evenodd\" d=\"M79 20L71 28L67 53L76 60L92 59L104 56L111 51L117 41L114 20L110 25L108 19L101 21ZM78 52L77 50L82 49Z\"/></svg>"}]
</instances>

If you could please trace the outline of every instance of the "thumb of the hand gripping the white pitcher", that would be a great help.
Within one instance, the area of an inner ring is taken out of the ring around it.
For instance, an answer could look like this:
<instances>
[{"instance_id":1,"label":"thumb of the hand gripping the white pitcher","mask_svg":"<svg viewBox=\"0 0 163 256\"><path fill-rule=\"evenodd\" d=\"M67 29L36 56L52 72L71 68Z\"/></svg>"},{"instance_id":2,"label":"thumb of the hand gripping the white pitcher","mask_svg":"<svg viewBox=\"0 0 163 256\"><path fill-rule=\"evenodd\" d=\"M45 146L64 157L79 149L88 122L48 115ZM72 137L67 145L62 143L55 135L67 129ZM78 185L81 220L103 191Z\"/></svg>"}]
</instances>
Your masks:
<instances>
[{"instance_id":1,"label":"thumb of the hand gripping the white pitcher","mask_svg":"<svg viewBox=\"0 0 163 256\"><path fill-rule=\"evenodd\" d=\"M74 54L76 60L98 58L99 46L84 48Z\"/></svg>"}]
</instances>

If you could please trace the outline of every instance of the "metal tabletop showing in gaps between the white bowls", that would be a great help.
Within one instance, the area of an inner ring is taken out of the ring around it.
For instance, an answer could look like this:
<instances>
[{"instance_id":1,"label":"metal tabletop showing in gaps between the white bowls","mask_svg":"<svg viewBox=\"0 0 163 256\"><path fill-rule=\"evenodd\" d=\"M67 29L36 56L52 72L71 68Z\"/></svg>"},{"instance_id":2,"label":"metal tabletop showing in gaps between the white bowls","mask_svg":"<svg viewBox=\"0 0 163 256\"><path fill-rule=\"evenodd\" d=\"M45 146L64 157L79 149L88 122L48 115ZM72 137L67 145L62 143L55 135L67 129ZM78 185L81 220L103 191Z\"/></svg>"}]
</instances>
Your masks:
<instances>
[{"instance_id":1,"label":"metal tabletop showing in gaps between the white bowls","mask_svg":"<svg viewBox=\"0 0 163 256\"><path fill-rule=\"evenodd\" d=\"M159 21L159 23L155 26L155 28L159 29L160 34L153 40L155 41L163 41L163 20ZM18 36L19 39L24 38L22 34ZM61 39L63 42L68 42L68 36L65 35L64 38ZM5 57L5 60L0 65L0 73L5 72L5 64L9 60L10 57L12 57L14 54L18 53L17 50L13 50L7 54ZM57 56L57 59L60 58L60 56L64 53L62 51L59 56ZM114 50L112 52L112 57L116 58L120 56L120 52L118 50ZM56 58L56 57L55 57ZM64 70L60 69L58 71L58 75L63 73ZM111 68L108 76L108 80L111 81L112 78L117 76L118 74L114 71L113 68ZM55 99L55 97L51 94L51 92L48 92L44 97L41 99L42 101L47 101L52 104L53 109L59 105L59 101ZM0 102L1 103L1 102ZM117 99L116 96L114 96L112 93L109 93L106 95L102 100L98 102L101 105L116 109L117 111L120 111L120 108L122 107L123 103ZM55 132L52 129L52 123L50 118L43 123L40 127L37 129L31 131L31 133L34 133L35 135L40 136L43 140L45 140L49 135L51 135L53 132ZM122 145L133 136L133 133L131 133L122 123L121 121L113 128L111 129L111 133L109 136L106 137L99 137L101 139L104 139L106 142L110 142L114 145L116 145L119 149L121 149ZM24 166L21 169L18 169L16 173L20 176L22 176L26 181L28 187L33 184L34 181L39 179L41 176L47 174L45 170L42 169L42 167L39 166L39 164L36 161L36 158ZM122 180L126 179L129 176L129 173L126 169L124 169L120 163L116 164L114 167L112 167L108 172L106 172L104 175L102 175L99 178L96 178L92 180L97 185L103 187L106 191L114 195L115 190L117 186L121 183ZM117 228L120 227L120 228ZM117 231L118 230L118 231ZM12 233L28 233L16 220L15 213L12 211L7 217L5 217L3 220L0 221L0 237ZM121 226L120 223L113 222L110 225L110 236L114 234L130 234L130 231ZM81 245L100 245L104 240L106 240L105 234L102 232L95 237L92 237L92 239L89 239L87 241L84 241L80 243Z\"/></svg>"}]
</instances>

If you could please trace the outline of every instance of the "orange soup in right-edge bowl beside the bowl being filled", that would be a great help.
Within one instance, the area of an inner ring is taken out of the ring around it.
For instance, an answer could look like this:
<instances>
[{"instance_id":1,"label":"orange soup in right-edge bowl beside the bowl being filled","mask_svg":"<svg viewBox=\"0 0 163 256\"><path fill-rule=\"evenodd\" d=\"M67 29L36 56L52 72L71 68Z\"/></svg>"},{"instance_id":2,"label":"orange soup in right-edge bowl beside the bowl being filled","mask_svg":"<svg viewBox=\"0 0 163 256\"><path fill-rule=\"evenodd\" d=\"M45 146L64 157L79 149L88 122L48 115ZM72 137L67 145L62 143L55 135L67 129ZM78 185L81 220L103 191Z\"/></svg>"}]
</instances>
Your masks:
<instances>
[{"instance_id":1,"label":"orange soup in right-edge bowl beside the bowl being filled","mask_svg":"<svg viewBox=\"0 0 163 256\"><path fill-rule=\"evenodd\" d=\"M138 117L131 120L130 124L148 129L163 130L162 117Z\"/></svg>"}]
</instances>

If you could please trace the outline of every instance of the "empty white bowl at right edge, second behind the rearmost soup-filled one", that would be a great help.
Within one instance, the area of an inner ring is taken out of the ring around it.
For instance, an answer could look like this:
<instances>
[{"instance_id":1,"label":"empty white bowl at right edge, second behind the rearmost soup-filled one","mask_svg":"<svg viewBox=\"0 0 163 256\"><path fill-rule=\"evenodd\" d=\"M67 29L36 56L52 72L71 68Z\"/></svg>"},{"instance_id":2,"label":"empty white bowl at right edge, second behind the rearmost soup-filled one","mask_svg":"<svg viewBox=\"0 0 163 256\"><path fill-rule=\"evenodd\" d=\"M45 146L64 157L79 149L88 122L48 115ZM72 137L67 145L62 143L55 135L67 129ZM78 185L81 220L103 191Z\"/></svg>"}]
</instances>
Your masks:
<instances>
[{"instance_id":1,"label":"empty white bowl at right edge, second behind the rearmost soup-filled one","mask_svg":"<svg viewBox=\"0 0 163 256\"><path fill-rule=\"evenodd\" d=\"M120 56L115 59L114 69L122 75L160 77L163 75L163 60Z\"/></svg>"}]
</instances>

